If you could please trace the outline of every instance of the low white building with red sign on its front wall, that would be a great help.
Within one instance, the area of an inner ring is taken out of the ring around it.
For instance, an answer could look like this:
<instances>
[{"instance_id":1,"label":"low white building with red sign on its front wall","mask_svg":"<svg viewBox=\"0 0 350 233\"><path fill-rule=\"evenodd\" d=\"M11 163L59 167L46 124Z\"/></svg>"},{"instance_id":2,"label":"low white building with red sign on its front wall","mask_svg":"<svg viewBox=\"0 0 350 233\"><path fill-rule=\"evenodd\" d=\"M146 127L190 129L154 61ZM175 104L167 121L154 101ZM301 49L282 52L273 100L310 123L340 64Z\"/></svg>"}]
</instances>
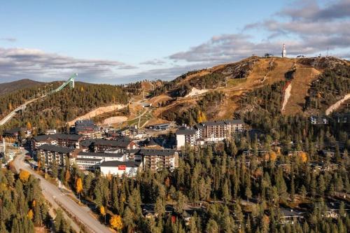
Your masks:
<instances>
[{"instance_id":1,"label":"low white building with red sign on its front wall","mask_svg":"<svg viewBox=\"0 0 350 233\"><path fill-rule=\"evenodd\" d=\"M100 165L101 173L104 176L118 175L123 176L123 174L134 177L137 175L137 171L141 169L141 162L135 161L106 161L102 162Z\"/></svg>"}]
</instances>

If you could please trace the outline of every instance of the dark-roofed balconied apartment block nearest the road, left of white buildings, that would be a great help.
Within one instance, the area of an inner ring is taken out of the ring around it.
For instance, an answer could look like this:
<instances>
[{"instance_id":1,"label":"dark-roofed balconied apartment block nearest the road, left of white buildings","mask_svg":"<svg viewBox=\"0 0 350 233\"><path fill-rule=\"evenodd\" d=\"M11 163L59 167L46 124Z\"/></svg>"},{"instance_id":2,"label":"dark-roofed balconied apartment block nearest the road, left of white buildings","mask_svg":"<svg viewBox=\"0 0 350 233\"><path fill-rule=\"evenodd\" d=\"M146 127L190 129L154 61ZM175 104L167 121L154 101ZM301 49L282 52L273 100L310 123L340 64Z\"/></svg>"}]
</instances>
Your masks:
<instances>
[{"instance_id":1,"label":"dark-roofed balconied apartment block nearest the road, left of white buildings","mask_svg":"<svg viewBox=\"0 0 350 233\"><path fill-rule=\"evenodd\" d=\"M73 148L63 146L55 146L50 144L43 144L37 148L38 157L45 157L45 165L51 166L55 160L57 166L64 166L66 158L69 158L69 163L73 164Z\"/></svg>"}]
</instances>

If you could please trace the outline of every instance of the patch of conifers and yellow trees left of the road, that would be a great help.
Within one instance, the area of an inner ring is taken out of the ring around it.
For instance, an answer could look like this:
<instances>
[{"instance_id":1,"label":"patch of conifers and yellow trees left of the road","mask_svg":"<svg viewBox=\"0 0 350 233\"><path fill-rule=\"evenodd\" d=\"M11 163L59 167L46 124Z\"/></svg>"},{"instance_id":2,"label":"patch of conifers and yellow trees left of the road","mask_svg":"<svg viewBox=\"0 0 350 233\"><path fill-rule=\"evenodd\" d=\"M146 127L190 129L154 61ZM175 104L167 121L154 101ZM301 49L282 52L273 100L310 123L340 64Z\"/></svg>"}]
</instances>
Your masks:
<instances>
[{"instance_id":1,"label":"patch of conifers and yellow trees left of the road","mask_svg":"<svg viewBox=\"0 0 350 233\"><path fill-rule=\"evenodd\" d=\"M36 229L55 229L70 233L71 227L57 210L55 223L49 215L50 206L41 194L38 179L28 171L15 172L12 164L0 171L0 232L34 233Z\"/></svg>"}]
</instances>

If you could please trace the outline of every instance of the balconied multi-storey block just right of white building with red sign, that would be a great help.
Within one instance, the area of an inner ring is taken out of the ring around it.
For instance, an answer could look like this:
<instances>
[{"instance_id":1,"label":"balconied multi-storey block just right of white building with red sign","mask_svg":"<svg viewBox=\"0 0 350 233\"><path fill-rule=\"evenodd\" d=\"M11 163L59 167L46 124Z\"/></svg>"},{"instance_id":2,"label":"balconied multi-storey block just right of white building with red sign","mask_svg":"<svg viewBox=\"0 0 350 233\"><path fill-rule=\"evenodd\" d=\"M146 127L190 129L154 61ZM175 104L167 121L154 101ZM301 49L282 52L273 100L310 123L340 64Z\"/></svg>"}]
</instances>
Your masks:
<instances>
[{"instance_id":1,"label":"balconied multi-storey block just right of white building with red sign","mask_svg":"<svg viewBox=\"0 0 350 233\"><path fill-rule=\"evenodd\" d=\"M135 155L141 155L144 170L173 170L176 167L179 167L179 154L176 152L176 150L140 149Z\"/></svg>"}]
</instances>

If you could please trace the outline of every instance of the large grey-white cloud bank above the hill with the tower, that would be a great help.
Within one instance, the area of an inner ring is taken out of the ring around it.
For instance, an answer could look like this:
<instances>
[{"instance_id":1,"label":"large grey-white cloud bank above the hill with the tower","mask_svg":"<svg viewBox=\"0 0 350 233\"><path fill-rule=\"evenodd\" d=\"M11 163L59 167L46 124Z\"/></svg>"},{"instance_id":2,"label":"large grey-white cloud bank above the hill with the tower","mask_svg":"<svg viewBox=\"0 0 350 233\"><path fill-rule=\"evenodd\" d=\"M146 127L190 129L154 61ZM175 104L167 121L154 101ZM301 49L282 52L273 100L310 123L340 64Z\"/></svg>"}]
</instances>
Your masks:
<instances>
[{"instance_id":1,"label":"large grey-white cloud bank above the hill with the tower","mask_svg":"<svg viewBox=\"0 0 350 233\"><path fill-rule=\"evenodd\" d=\"M299 7L295 7L299 6ZM276 17L278 15L278 17ZM315 55L327 50L350 49L350 1L332 1L321 7L316 1L293 3L274 17L247 24L241 34L213 36L169 59L185 62L230 62L252 54L272 52L279 55L286 43L289 55ZM266 34L267 39L254 41L249 33ZM344 52L346 53L346 52Z\"/></svg>"}]
</instances>

